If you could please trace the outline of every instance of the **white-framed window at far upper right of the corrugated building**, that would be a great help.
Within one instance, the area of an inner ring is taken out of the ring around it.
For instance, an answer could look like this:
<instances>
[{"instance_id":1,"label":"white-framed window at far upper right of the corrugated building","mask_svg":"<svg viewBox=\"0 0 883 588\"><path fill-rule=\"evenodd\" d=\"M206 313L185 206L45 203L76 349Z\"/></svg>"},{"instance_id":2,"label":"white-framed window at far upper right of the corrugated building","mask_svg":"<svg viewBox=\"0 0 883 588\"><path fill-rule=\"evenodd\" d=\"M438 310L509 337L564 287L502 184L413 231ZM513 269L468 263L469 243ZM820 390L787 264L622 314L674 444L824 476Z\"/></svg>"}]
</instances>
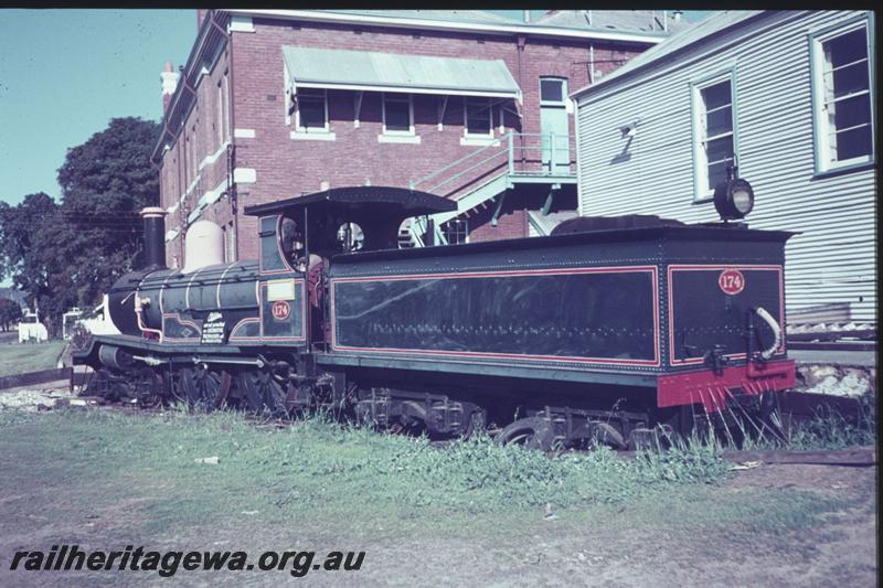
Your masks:
<instances>
[{"instance_id":1,"label":"white-framed window at far upper right of the corrugated building","mask_svg":"<svg viewBox=\"0 0 883 588\"><path fill-rule=\"evenodd\" d=\"M870 32L862 18L810 35L817 173L874 160Z\"/></svg>"}]
</instances>

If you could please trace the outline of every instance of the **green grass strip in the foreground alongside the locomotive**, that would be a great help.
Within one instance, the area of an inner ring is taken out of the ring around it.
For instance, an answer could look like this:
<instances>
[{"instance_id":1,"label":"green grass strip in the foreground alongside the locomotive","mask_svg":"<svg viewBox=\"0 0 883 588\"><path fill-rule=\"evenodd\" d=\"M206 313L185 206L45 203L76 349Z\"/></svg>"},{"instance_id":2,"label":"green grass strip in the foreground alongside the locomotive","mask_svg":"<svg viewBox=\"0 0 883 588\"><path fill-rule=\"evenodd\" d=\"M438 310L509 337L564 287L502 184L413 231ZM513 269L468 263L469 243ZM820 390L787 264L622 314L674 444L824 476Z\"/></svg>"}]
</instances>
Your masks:
<instances>
[{"instance_id":1,"label":"green grass strip in the foreground alongside the locomotive","mask_svg":"<svg viewBox=\"0 0 883 588\"><path fill-rule=\"evenodd\" d=\"M606 449L549 458L487 438L439 448L321 419L260 429L236 413L55 410L0 411L0 492L34 489L29 504L62 521L96 503L135 501L127 516L147 536L243 518L256 528L297 521L311 533L372 539L496 533L543 523L546 504L624 528L670 527L677 512L684 532L778 533L837 506L811 493L733 493L721 485L727 464L708 446L635 459ZM211 456L220 463L194 462Z\"/></svg>"}]
</instances>

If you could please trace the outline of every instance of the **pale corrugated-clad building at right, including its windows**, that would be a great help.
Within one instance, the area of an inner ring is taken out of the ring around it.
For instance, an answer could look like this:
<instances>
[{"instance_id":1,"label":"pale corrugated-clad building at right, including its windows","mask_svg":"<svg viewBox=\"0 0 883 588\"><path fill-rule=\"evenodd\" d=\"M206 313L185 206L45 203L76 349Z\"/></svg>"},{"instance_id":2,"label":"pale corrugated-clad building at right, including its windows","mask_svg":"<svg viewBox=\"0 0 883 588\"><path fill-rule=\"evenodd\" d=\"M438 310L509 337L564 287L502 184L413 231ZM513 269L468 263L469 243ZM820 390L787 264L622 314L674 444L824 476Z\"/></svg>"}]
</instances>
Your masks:
<instances>
[{"instance_id":1,"label":"pale corrugated-clad building at right, including its windows","mask_svg":"<svg viewBox=\"0 0 883 588\"><path fill-rule=\"evenodd\" d=\"M788 240L789 322L876 321L874 14L731 10L576 89L579 211L717 220L726 167Z\"/></svg>"}]
</instances>

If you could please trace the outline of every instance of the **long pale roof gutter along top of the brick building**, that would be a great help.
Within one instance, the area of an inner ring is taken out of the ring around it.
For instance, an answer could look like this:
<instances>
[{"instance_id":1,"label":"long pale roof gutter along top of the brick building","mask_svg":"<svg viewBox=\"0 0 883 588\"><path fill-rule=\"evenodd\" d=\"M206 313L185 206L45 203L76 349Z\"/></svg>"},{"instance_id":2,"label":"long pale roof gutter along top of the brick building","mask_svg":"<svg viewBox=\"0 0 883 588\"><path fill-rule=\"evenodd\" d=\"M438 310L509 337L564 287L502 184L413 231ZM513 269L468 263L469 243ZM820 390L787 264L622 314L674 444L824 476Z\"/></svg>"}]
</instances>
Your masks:
<instances>
[{"instance_id":1,"label":"long pale roof gutter along top of the brick building","mask_svg":"<svg viewBox=\"0 0 883 588\"><path fill-rule=\"evenodd\" d=\"M482 34L528 34L535 36L556 36L567 39L594 39L599 41L623 41L628 43L646 43L655 45L668 39L664 32L634 33L626 31L578 30L561 26L543 26L536 24L485 24L478 22L453 22L430 19L409 19L397 17L372 17L366 14L347 14L342 12L326 12L318 10L248 10L227 9L223 12L242 17L263 17L267 19L299 20L310 22L329 22L345 24L375 24L389 28L426 29L437 31L455 31Z\"/></svg>"}]
</instances>

